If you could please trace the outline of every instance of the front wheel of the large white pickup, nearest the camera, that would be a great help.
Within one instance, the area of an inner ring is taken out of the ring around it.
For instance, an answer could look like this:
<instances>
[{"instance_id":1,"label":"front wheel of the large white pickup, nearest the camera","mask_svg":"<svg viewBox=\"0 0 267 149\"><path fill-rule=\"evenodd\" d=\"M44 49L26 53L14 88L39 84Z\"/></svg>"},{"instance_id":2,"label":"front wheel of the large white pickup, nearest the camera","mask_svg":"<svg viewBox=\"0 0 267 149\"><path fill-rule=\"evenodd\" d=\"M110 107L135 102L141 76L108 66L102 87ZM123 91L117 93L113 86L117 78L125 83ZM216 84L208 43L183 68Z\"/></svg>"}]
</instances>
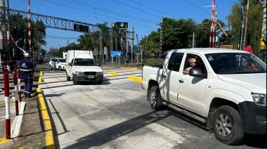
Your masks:
<instances>
[{"instance_id":1,"label":"front wheel of the large white pickup, nearest the camera","mask_svg":"<svg viewBox=\"0 0 267 149\"><path fill-rule=\"evenodd\" d=\"M228 105L216 110L212 119L212 129L219 141L229 145L240 143L244 138L240 114Z\"/></svg>"}]
</instances>

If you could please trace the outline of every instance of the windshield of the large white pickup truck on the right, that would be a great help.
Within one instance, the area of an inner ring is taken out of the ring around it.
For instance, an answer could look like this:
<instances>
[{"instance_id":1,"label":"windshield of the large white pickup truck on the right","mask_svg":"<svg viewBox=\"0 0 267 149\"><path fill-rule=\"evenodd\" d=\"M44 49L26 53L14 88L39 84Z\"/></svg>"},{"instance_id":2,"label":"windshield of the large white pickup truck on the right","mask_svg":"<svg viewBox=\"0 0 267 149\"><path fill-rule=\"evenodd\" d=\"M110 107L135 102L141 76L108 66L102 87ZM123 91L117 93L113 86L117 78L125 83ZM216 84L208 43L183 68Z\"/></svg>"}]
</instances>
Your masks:
<instances>
[{"instance_id":1,"label":"windshield of the large white pickup truck on the right","mask_svg":"<svg viewBox=\"0 0 267 149\"><path fill-rule=\"evenodd\" d=\"M216 74L266 73L266 64L251 53L211 53L205 56Z\"/></svg>"}]
</instances>

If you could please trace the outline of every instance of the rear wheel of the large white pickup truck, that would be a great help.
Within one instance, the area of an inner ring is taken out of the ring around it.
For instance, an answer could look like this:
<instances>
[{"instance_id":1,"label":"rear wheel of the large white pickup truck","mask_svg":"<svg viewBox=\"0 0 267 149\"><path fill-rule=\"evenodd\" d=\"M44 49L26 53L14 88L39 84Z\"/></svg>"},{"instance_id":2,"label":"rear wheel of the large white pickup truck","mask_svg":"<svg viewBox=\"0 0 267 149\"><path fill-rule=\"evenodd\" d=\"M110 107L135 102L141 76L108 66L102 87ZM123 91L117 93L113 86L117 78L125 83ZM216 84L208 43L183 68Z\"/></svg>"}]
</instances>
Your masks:
<instances>
[{"instance_id":1,"label":"rear wheel of the large white pickup truck","mask_svg":"<svg viewBox=\"0 0 267 149\"><path fill-rule=\"evenodd\" d=\"M162 105L162 96L160 96L159 92L159 86L152 86L152 88L149 91L149 97L148 97L150 106L154 110L161 110Z\"/></svg>"}]
</instances>

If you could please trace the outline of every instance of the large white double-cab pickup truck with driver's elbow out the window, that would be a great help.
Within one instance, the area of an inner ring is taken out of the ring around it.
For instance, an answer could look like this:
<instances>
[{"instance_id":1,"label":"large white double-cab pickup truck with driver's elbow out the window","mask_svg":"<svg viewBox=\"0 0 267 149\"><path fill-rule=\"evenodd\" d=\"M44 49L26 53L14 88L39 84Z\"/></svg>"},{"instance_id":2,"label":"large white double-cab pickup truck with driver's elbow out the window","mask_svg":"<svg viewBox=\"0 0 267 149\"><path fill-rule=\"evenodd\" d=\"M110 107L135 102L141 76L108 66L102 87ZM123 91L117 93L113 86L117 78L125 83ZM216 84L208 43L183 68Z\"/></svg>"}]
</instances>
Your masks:
<instances>
[{"instance_id":1,"label":"large white double-cab pickup truck with driver's elbow out the window","mask_svg":"<svg viewBox=\"0 0 267 149\"><path fill-rule=\"evenodd\" d=\"M190 67L189 58L196 58ZM173 108L203 122L226 144L266 134L266 63L245 51L188 48L167 51L143 67L142 87L154 110Z\"/></svg>"}]
</instances>

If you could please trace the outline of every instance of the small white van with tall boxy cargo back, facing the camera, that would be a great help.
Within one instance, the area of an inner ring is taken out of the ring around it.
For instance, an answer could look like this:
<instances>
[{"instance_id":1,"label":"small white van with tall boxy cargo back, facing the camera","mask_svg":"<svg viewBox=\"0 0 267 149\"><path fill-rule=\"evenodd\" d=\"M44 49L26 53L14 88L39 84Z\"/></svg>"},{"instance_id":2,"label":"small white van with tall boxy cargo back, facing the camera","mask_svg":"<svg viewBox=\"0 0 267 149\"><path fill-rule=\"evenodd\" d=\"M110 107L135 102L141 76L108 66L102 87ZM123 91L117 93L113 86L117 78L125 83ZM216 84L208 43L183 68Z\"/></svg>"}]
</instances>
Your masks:
<instances>
[{"instance_id":1,"label":"small white van with tall boxy cargo back, facing the camera","mask_svg":"<svg viewBox=\"0 0 267 149\"><path fill-rule=\"evenodd\" d=\"M92 51L67 51L66 60L67 81L72 78L73 84L80 82L103 83L103 70L93 59Z\"/></svg>"}]
</instances>

